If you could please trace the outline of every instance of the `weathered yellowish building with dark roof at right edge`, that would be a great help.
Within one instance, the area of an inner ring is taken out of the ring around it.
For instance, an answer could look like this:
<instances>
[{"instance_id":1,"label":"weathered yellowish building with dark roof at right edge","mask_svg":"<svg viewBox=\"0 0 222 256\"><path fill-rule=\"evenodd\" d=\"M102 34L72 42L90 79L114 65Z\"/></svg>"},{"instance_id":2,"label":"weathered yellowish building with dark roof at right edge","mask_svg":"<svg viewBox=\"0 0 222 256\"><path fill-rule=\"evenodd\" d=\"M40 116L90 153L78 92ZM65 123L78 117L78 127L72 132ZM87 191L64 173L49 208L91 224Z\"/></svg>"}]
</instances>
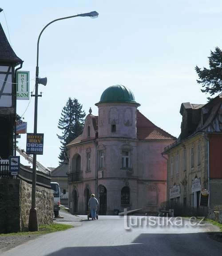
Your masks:
<instances>
[{"instance_id":1,"label":"weathered yellowish building with dark roof at right edge","mask_svg":"<svg viewBox=\"0 0 222 256\"><path fill-rule=\"evenodd\" d=\"M209 207L222 205L222 95L205 105L183 103L181 134L167 146L167 200L198 208L202 191Z\"/></svg>"}]
</instances>

